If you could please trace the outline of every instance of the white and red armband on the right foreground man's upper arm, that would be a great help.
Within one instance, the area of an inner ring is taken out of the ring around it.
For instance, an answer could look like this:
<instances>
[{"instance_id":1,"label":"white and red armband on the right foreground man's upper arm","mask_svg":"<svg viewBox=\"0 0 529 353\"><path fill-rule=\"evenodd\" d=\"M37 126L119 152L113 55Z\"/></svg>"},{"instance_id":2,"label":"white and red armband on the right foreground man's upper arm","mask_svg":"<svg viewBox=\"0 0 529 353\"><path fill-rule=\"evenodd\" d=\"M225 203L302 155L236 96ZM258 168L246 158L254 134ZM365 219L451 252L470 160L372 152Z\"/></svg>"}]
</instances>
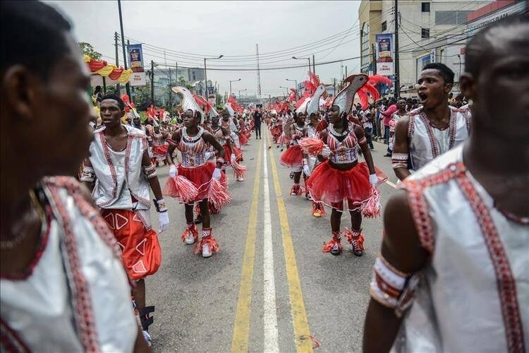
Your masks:
<instances>
[{"instance_id":1,"label":"white and red armband on the right foreground man's upper arm","mask_svg":"<svg viewBox=\"0 0 529 353\"><path fill-rule=\"evenodd\" d=\"M379 255L373 267L369 292L372 299L394 309L396 316L401 317L411 306L418 283L418 275L396 270Z\"/></svg>"}]
</instances>

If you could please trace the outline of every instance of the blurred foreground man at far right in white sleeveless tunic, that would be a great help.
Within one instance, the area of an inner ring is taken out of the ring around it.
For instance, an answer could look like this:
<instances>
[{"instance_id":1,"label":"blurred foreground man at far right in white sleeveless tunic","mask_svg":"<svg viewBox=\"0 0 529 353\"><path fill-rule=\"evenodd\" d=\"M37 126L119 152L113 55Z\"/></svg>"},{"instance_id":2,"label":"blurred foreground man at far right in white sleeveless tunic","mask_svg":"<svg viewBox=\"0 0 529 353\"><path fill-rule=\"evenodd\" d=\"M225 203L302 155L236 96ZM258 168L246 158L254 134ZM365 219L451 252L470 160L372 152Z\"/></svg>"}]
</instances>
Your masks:
<instances>
[{"instance_id":1,"label":"blurred foreground man at far right in white sleeveless tunic","mask_svg":"<svg viewBox=\"0 0 529 353\"><path fill-rule=\"evenodd\" d=\"M473 102L470 138L389 199L363 352L528 352L529 76L520 45L529 45L527 15L467 43L460 89Z\"/></svg>"}]
</instances>

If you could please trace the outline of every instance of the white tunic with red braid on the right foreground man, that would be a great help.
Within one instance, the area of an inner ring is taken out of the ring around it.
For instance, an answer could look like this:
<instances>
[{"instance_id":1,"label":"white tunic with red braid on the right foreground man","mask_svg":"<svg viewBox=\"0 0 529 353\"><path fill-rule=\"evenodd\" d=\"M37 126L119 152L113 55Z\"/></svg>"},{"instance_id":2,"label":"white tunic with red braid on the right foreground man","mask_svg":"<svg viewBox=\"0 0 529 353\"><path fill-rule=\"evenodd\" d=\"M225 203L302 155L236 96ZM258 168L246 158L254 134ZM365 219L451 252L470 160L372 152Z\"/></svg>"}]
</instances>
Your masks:
<instances>
[{"instance_id":1,"label":"white tunic with red braid on the right foreground man","mask_svg":"<svg viewBox=\"0 0 529 353\"><path fill-rule=\"evenodd\" d=\"M529 225L494 208L462 151L401 184L430 261L394 352L527 352Z\"/></svg>"}]
</instances>

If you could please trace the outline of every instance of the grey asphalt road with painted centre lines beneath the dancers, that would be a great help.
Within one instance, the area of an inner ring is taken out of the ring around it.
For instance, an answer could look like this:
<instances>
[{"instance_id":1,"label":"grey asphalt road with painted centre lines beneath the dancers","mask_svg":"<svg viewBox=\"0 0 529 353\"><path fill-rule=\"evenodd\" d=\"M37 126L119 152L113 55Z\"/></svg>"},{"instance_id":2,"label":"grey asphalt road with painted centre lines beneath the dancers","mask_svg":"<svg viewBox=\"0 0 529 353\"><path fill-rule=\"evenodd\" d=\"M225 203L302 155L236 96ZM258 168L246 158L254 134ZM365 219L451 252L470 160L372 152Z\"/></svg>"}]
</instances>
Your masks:
<instances>
[{"instance_id":1,"label":"grey asphalt road with painted centre lines beneath the dancers","mask_svg":"<svg viewBox=\"0 0 529 353\"><path fill-rule=\"evenodd\" d=\"M147 278L154 352L310 352L316 340L317 351L360 352L382 217L363 221L364 256L344 240L341 256L322 253L329 215L312 217L310 201L288 195L288 169L265 138L244 147L245 181L229 170L233 201L212 216L220 253L202 258L181 242L183 205L166 198L171 225L159 236L162 266ZM395 182L385 149L375 143L372 155ZM158 175L164 184L168 168ZM384 206L394 184L379 189ZM152 220L157 226L154 212Z\"/></svg>"}]
</instances>

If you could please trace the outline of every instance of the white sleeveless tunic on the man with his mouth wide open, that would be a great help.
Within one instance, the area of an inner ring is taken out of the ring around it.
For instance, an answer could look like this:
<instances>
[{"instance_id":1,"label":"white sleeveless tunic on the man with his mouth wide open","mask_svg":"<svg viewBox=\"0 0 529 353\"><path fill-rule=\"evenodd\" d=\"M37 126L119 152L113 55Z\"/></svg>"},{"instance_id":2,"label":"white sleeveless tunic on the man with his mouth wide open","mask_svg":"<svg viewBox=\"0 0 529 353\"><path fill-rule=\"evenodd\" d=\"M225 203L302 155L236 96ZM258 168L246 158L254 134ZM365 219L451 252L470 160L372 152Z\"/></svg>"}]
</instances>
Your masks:
<instances>
[{"instance_id":1,"label":"white sleeveless tunic on the man with his mouth wide open","mask_svg":"<svg viewBox=\"0 0 529 353\"><path fill-rule=\"evenodd\" d=\"M409 113L408 152L411 170L418 170L438 155L456 147L470 134L470 110L449 107L451 110L449 127L444 130L434 128L422 107Z\"/></svg>"}]
</instances>

